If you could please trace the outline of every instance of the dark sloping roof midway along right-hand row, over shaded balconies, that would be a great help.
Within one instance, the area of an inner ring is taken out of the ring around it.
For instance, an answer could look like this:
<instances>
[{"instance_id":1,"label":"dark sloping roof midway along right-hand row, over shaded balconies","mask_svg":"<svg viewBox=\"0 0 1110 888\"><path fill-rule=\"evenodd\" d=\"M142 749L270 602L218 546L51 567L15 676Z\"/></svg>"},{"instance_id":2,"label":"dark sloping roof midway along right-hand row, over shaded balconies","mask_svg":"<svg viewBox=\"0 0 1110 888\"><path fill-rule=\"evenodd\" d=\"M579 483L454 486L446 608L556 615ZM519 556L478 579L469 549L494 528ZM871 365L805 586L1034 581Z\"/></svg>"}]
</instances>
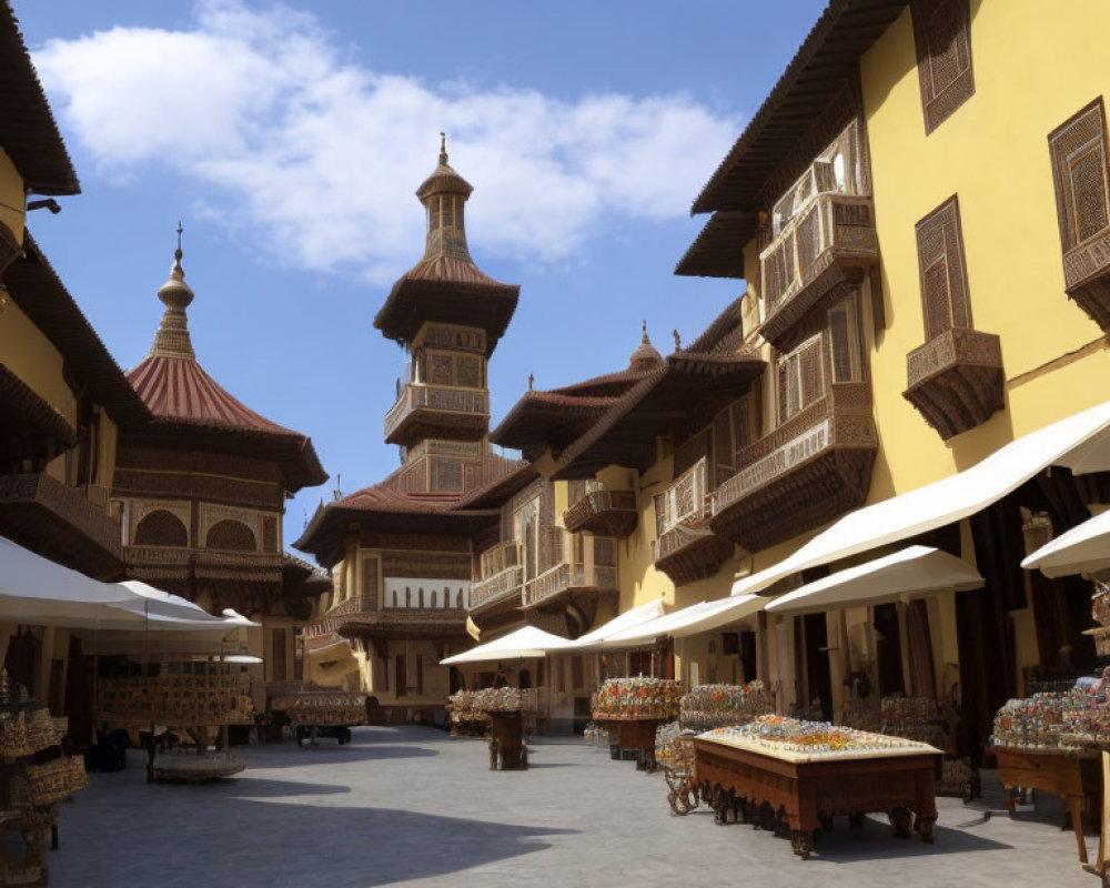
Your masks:
<instances>
[{"instance_id":1,"label":"dark sloping roof midway along right-hand row, over shaded balconies","mask_svg":"<svg viewBox=\"0 0 1110 888\"><path fill-rule=\"evenodd\" d=\"M655 462L658 435L683 422L702 398L739 394L765 365L754 352L668 355L563 452L553 477L593 477L613 464L645 472Z\"/></svg>"}]
</instances>

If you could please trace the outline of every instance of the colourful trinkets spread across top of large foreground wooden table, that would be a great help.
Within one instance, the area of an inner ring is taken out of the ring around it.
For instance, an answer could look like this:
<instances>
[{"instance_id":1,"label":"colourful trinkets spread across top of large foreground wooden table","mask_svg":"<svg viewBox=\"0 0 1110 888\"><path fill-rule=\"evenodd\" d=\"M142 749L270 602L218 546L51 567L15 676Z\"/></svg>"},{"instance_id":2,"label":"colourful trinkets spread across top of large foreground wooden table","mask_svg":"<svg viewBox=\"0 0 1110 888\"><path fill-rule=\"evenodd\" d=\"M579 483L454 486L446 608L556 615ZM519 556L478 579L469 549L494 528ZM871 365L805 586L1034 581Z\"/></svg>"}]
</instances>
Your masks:
<instances>
[{"instance_id":1,"label":"colourful trinkets spread across top of large foreground wooden table","mask_svg":"<svg viewBox=\"0 0 1110 888\"><path fill-rule=\"evenodd\" d=\"M746 725L715 728L699 737L794 761L940 751L928 744L904 737L781 715L758 716Z\"/></svg>"}]
</instances>

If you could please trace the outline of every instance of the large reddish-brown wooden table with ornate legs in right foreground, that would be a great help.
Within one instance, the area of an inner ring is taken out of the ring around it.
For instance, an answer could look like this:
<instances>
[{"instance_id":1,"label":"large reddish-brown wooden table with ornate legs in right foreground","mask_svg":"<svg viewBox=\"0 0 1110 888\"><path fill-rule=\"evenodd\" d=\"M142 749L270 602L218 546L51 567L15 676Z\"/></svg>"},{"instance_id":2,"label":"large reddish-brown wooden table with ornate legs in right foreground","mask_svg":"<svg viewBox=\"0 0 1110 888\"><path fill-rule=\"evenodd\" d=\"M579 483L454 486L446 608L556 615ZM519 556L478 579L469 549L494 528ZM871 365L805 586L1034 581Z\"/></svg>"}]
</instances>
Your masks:
<instances>
[{"instance_id":1,"label":"large reddish-brown wooden table with ornate legs in right foreground","mask_svg":"<svg viewBox=\"0 0 1110 888\"><path fill-rule=\"evenodd\" d=\"M717 821L737 815L754 821L768 814L785 820L794 852L803 859L813 850L815 830L831 829L837 815L847 815L855 826L868 811L885 811L895 835L908 836L914 825L925 841L934 839L934 770L940 751L925 744L806 756L706 737L693 743L695 779Z\"/></svg>"}]
</instances>

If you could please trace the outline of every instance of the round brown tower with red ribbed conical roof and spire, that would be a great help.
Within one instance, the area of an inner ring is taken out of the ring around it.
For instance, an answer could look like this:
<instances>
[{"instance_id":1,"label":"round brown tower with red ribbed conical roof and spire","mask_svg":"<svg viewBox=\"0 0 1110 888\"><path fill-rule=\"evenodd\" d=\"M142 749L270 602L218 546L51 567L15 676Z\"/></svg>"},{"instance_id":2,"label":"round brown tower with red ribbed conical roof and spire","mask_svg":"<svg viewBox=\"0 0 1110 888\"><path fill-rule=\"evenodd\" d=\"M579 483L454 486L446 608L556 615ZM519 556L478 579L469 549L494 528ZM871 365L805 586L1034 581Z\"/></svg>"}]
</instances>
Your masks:
<instances>
[{"instance_id":1,"label":"round brown tower with red ribbed conical roof and spire","mask_svg":"<svg viewBox=\"0 0 1110 888\"><path fill-rule=\"evenodd\" d=\"M305 435L255 413L196 360L180 222L176 235L169 279L158 290L161 323L147 356L127 373L153 418L120 430L111 496L123 522L124 566L130 577L213 612L234 607L261 618L272 640L272 620L304 609L289 584L290 571L300 576L304 563L282 545L286 496L327 475ZM292 633L278 637L292 663Z\"/></svg>"}]
</instances>

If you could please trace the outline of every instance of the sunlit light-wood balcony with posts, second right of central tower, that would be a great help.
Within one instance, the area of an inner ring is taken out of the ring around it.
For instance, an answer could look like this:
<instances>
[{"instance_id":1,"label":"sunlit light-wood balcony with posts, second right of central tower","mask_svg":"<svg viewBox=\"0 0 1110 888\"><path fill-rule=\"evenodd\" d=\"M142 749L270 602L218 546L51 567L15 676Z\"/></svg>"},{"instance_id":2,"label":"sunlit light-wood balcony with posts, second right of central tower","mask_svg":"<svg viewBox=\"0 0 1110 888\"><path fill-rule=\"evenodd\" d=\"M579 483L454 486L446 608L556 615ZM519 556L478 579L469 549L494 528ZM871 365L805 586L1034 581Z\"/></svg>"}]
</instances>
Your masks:
<instances>
[{"instance_id":1,"label":"sunlit light-wood balcony with posts, second right of central tower","mask_svg":"<svg viewBox=\"0 0 1110 888\"><path fill-rule=\"evenodd\" d=\"M604 537L592 542L589 554L581 536L562 527L542 526L539 574L525 581L522 606L552 606L579 594L597 597L616 593L616 545Z\"/></svg>"}]
</instances>

